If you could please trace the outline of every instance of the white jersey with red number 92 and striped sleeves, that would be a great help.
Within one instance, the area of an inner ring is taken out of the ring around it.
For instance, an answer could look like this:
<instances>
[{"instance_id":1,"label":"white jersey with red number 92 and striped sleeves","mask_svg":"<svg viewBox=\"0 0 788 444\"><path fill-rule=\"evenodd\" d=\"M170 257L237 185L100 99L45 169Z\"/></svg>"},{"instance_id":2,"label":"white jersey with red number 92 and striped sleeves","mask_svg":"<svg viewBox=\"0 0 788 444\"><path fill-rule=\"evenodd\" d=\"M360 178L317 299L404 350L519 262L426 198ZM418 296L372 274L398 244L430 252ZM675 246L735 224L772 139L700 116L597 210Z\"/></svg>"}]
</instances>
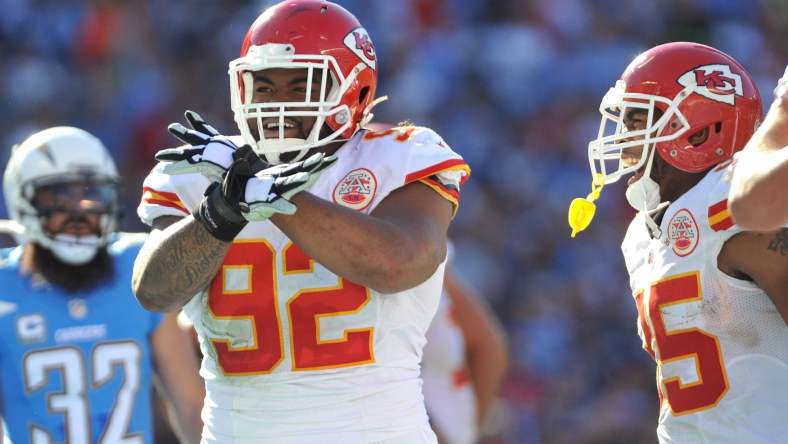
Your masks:
<instances>
[{"instance_id":1,"label":"white jersey with red number 92 and striped sleeves","mask_svg":"<svg viewBox=\"0 0 788 444\"><path fill-rule=\"evenodd\" d=\"M456 207L469 174L421 127L359 132L336 154L308 192L366 214L416 181ZM147 224L189 214L207 185L158 165L138 214ZM270 221L247 225L210 288L185 307L204 355L203 441L421 442L408 436L429 432L419 362L443 270L383 295L313 261Z\"/></svg>"}]
</instances>

